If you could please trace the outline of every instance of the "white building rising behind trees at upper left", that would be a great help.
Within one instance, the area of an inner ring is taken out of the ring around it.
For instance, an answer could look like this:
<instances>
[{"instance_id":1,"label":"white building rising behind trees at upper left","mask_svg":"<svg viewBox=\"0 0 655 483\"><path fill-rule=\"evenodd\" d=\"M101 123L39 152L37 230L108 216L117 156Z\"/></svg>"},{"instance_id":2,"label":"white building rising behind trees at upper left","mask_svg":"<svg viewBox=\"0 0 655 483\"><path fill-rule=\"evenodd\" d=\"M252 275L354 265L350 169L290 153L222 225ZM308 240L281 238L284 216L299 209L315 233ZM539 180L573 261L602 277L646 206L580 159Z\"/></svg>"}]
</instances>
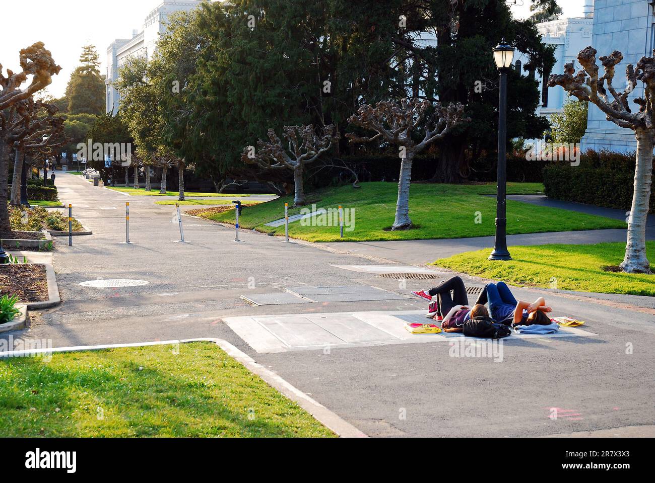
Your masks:
<instances>
[{"instance_id":1,"label":"white building rising behind trees at upper left","mask_svg":"<svg viewBox=\"0 0 655 483\"><path fill-rule=\"evenodd\" d=\"M113 87L118 79L118 71L130 57L152 58L157 50L159 35L166 32L168 16L180 10L193 10L202 1L200 0L162 0L157 8L152 10L143 20L141 30L132 31L132 39L116 39L107 48L107 113L116 114L121 98Z\"/></svg>"}]
</instances>

